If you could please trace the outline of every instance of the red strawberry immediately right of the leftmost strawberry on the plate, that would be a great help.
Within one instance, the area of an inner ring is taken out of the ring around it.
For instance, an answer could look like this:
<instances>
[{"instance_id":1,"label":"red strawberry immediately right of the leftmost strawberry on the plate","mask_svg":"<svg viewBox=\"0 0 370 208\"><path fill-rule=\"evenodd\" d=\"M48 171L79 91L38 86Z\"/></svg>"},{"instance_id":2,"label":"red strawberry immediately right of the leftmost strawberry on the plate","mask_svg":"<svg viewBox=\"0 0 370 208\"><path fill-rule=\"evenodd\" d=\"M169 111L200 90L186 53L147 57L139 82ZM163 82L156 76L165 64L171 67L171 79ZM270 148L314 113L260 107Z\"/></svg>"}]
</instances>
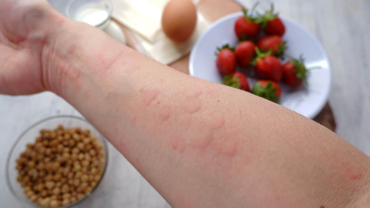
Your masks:
<instances>
[{"instance_id":1,"label":"red strawberry immediately right of the leftmost strawberry on the plate","mask_svg":"<svg viewBox=\"0 0 370 208\"><path fill-rule=\"evenodd\" d=\"M249 66L256 55L255 47L256 45L251 41L242 41L235 47L235 55L240 66Z\"/></svg>"}]
</instances>

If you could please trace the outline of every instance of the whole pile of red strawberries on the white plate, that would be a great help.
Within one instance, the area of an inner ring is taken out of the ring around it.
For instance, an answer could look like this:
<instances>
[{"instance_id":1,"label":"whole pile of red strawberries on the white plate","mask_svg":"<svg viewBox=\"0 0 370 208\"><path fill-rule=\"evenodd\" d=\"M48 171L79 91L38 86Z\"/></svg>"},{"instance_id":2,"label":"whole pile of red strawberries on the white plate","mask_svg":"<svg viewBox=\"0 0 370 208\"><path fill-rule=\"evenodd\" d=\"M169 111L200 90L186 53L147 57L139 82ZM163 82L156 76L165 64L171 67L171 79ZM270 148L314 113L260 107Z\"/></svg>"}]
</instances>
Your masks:
<instances>
[{"instance_id":1,"label":"whole pile of red strawberries on the white plate","mask_svg":"<svg viewBox=\"0 0 370 208\"><path fill-rule=\"evenodd\" d=\"M291 58L282 64L286 42L282 40L285 26L271 10L264 14L252 16L255 6L248 13L235 21L235 34L240 42L235 48L228 44L218 49L216 66L224 76L224 84L241 90L250 91L248 80L241 72L236 71L237 64L241 67L254 66L258 80L252 88L252 93L278 103L281 94L279 82L296 87L302 84L307 75L303 58Z\"/></svg>"}]
</instances>

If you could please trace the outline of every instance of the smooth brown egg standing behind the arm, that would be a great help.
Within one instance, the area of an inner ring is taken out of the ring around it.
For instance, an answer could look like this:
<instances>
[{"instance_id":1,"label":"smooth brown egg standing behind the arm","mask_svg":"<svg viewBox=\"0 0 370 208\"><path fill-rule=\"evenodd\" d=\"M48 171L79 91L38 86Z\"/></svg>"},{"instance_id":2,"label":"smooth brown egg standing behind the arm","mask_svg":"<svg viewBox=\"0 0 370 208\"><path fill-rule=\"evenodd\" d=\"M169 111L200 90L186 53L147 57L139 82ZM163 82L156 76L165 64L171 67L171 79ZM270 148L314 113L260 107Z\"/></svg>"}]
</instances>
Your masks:
<instances>
[{"instance_id":1,"label":"smooth brown egg standing behind the arm","mask_svg":"<svg viewBox=\"0 0 370 208\"><path fill-rule=\"evenodd\" d=\"M196 26L196 7L191 0L171 0L162 14L162 28L176 42L187 40Z\"/></svg>"}]
</instances>

